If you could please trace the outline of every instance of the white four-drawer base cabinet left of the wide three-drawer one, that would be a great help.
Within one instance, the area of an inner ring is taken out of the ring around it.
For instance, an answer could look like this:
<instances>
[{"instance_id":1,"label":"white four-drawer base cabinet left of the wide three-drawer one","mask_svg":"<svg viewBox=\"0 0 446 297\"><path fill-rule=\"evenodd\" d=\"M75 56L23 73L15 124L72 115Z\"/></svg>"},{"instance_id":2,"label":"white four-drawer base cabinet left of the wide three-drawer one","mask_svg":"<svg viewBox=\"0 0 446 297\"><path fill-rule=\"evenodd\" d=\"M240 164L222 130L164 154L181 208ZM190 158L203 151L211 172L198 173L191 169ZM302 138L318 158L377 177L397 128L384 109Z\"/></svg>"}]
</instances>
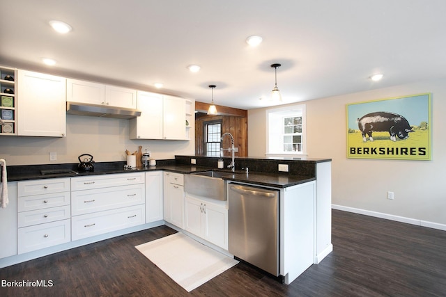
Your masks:
<instances>
[{"instance_id":1,"label":"white four-drawer base cabinet left of the wide three-drawer one","mask_svg":"<svg viewBox=\"0 0 446 297\"><path fill-rule=\"evenodd\" d=\"M71 240L70 179L17 182L17 252Z\"/></svg>"}]
</instances>

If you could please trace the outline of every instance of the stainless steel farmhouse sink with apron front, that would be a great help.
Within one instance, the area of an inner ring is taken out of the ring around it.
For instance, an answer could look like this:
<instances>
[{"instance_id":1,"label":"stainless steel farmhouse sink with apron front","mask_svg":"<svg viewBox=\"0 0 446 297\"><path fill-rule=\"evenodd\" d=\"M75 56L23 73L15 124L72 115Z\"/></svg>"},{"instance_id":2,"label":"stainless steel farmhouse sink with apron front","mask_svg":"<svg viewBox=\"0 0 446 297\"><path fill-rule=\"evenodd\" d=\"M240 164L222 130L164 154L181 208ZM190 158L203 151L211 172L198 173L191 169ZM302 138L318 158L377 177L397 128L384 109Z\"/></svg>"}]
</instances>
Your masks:
<instances>
[{"instance_id":1,"label":"stainless steel farmhouse sink with apron front","mask_svg":"<svg viewBox=\"0 0 446 297\"><path fill-rule=\"evenodd\" d=\"M228 173L213 170L185 175L185 192L224 201L226 200L226 187L224 179L222 179L224 175L228 175Z\"/></svg>"}]
</instances>

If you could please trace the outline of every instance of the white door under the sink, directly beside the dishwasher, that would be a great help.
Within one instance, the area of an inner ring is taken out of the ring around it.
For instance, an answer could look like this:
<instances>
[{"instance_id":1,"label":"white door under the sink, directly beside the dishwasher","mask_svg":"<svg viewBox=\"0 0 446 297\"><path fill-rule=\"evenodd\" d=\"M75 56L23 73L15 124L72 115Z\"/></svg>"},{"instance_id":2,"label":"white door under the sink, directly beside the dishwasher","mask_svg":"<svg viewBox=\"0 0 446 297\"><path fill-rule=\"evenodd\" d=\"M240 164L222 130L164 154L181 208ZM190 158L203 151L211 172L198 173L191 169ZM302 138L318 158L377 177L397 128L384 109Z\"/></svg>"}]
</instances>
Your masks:
<instances>
[{"instance_id":1,"label":"white door under the sink, directly beside the dishwasher","mask_svg":"<svg viewBox=\"0 0 446 297\"><path fill-rule=\"evenodd\" d=\"M204 218L204 239L228 250L228 209L205 202Z\"/></svg>"}]
</instances>

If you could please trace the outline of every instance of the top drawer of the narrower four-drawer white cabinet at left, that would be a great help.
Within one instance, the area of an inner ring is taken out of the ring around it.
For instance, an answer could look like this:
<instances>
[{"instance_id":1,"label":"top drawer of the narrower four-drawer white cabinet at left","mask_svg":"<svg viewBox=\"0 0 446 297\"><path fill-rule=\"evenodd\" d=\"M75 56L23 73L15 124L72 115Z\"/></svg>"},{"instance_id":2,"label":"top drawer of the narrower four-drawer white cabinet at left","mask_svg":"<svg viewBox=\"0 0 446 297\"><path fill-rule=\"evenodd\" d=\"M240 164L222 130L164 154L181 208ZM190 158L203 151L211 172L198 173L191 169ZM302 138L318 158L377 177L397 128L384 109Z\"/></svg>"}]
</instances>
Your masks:
<instances>
[{"instance_id":1,"label":"top drawer of the narrower four-drawer white cabinet at left","mask_svg":"<svg viewBox=\"0 0 446 297\"><path fill-rule=\"evenodd\" d=\"M70 191L70 178L39 179L17 182L17 195L42 195Z\"/></svg>"}]
</instances>

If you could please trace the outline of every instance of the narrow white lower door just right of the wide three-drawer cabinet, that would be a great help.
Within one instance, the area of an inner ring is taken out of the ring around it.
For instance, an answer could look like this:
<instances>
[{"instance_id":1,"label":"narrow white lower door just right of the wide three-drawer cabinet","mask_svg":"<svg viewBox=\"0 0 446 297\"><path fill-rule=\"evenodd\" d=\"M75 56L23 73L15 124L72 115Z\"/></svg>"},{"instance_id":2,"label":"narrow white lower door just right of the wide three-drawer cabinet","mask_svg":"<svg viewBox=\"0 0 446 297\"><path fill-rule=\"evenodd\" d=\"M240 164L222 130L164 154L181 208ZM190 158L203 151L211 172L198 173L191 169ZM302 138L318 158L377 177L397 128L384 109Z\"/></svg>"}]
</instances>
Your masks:
<instances>
[{"instance_id":1,"label":"narrow white lower door just right of the wide three-drawer cabinet","mask_svg":"<svg viewBox=\"0 0 446 297\"><path fill-rule=\"evenodd\" d=\"M146 223L162 220L162 171L146 172Z\"/></svg>"}]
</instances>

